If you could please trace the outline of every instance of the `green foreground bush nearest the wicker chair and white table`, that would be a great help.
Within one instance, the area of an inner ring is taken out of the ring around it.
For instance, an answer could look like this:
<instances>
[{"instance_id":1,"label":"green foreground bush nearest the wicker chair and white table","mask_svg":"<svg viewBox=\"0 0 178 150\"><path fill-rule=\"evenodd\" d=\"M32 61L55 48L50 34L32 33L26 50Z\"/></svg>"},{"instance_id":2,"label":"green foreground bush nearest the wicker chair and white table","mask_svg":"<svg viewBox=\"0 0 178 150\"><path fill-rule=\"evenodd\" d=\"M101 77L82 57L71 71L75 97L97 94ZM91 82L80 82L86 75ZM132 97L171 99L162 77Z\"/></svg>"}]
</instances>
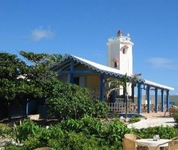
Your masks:
<instances>
[{"instance_id":1,"label":"green foreground bush nearest the wicker chair and white table","mask_svg":"<svg viewBox=\"0 0 178 150\"><path fill-rule=\"evenodd\" d=\"M89 141L94 139L100 149L101 147L104 149L104 146L106 148L107 145L107 148L121 150L122 138L125 133L130 132L130 129L119 120L111 120L106 123L86 115L80 120L62 121L60 125L64 132L82 133Z\"/></svg>"}]
</instances>

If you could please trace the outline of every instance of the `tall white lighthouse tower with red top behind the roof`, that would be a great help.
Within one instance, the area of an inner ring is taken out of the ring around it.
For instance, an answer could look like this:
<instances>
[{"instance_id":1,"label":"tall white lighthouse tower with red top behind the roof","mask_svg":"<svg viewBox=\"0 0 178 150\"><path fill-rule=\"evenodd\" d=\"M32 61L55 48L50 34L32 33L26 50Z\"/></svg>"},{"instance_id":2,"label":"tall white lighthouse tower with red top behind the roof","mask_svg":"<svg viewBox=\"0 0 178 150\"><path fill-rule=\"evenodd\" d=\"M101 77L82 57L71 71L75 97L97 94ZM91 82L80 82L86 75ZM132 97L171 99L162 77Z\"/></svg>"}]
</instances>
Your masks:
<instances>
[{"instance_id":1,"label":"tall white lighthouse tower with red top behind the roof","mask_svg":"<svg viewBox=\"0 0 178 150\"><path fill-rule=\"evenodd\" d=\"M108 56L107 64L109 67L120 70L123 74L133 74L133 54L130 35L122 35L122 31L119 30L116 37L108 39ZM123 93L121 89L120 94ZM131 88L128 87L128 94L131 95Z\"/></svg>"}]
</instances>

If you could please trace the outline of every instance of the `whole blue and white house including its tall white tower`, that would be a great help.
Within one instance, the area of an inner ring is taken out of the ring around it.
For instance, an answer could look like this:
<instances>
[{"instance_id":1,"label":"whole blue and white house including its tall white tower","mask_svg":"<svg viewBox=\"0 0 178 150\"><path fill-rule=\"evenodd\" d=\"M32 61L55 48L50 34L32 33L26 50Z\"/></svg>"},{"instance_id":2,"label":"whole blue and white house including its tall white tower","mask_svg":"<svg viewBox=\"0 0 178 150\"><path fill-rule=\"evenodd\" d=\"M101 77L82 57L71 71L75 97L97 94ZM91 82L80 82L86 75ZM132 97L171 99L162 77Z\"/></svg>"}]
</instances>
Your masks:
<instances>
[{"instance_id":1,"label":"whole blue and white house including its tall white tower","mask_svg":"<svg viewBox=\"0 0 178 150\"><path fill-rule=\"evenodd\" d=\"M133 78L133 54L130 35L122 35L119 30L116 37L107 41L107 66L66 54L59 65L53 69L58 71L58 78L64 82L77 84L91 90L91 94L100 101L106 101L111 111L125 112L125 99L122 87L112 99L106 98L106 79L108 77L122 80L127 74L128 81ZM151 90L154 99L151 99ZM141 76L134 84L128 84L128 113L158 112L169 107L169 91L174 88L142 79ZM145 91L146 95L142 93ZM160 94L159 94L160 93Z\"/></svg>"}]
</instances>

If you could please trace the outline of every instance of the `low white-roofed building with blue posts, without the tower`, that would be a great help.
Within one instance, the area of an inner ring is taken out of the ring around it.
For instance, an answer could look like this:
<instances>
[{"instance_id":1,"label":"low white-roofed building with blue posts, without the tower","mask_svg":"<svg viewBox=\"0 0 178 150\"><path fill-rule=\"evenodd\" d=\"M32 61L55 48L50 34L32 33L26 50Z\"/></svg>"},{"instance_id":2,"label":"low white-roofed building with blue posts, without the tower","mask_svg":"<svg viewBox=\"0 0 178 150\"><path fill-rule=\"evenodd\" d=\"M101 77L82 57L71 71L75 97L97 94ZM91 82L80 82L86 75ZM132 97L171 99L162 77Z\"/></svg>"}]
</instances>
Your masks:
<instances>
[{"instance_id":1,"label":"low white-roofed building with blue posts, without the tower","mask_svg":"<svg viewBox=\"0 0 178 150\"><path fill-rule=\"evenodd\" d=\"M140 78L131 86L132 94L127 100L127 104L125 96L123 98L114 97L112 101L106 101L105 79L112 77L123 80L125 74L120 70L70 54L65 55L60 64L51 68L58 71L60 80L90 88L96 98L108 103L111 112L126 113L126 106L127 113L131 114L163 112L169 108L169 91L174 90L172 87ZM127 75L127 78L128 81L131 81L133 77L132 75ZM144 98L143 90L146 93ZM153 90L154 100L150 98L150 91ZM159 94L159 92L161 93Z\"/></svg>"}]
</instances>

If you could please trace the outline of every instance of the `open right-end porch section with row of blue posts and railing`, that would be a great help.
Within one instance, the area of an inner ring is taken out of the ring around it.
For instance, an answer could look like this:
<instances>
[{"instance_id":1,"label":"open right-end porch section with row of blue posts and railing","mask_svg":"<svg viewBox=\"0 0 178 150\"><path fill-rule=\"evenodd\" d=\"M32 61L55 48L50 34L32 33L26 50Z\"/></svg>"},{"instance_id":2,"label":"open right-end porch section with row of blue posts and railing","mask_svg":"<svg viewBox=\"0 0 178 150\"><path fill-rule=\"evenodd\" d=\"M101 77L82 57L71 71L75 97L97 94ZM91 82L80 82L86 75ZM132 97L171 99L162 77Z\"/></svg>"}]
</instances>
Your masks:
<instances>
[{"instance_id":1,"label":"open right-end porch section with row of blue posts and railing","mask_svg":"<svg viewBox=\"0 0 178 150\"><path fill-rule=\"evenodd\" d=\"M137 96L127 100L127 113L140 114L168 111L171 106L169 100L170 90L174 89L147 80L144 80L142 83L137 83ZM143 92L145 92L144 95ZM115 97L114 101L109 103L109 107L111 112L126 113L126 100Z\"/></svg>"}]
</instances>

